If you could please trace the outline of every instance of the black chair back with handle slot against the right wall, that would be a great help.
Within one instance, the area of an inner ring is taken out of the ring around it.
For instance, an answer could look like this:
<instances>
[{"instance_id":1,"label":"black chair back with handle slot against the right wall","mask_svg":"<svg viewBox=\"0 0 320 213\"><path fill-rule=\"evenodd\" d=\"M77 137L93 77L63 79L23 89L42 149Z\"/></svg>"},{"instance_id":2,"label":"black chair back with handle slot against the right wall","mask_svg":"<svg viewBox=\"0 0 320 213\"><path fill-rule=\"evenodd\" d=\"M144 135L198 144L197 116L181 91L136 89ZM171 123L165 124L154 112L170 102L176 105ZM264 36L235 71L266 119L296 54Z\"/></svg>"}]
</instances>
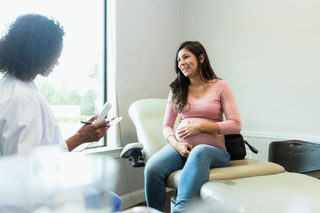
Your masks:
<instances>
[{"instance_id":1,"label":"black chair back with handle slot against the right wall","mask_svg":"<svg viewBox=\"0 0 320 213\"><path fill-rule=\"evenodd\" d=\"M273 141L269 144L268 161L286 171L320 178L320 144L305 141Z\"/></svg>"}]
</instances>

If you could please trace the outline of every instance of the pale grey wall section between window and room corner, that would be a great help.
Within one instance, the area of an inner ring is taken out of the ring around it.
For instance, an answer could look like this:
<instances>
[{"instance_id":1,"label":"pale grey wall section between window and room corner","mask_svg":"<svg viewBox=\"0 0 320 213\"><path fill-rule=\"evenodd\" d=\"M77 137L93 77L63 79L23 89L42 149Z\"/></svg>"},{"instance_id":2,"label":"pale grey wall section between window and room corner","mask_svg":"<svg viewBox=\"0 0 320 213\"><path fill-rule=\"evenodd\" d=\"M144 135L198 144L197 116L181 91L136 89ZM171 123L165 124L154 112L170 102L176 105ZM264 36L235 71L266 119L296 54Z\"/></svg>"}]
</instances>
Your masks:
<instances>
[{"instance_id":1,"label":"pale grey wall section between window and room corner","mask_svg":"<svg viewBox=\"0 0 320 213\"><path fill-rule=\"evenodd\" d=\"M128 116L130 104L168 96L168 85L174 77L175 50L181 42L181 2L115 0L116 91L119 115L123 117L122 146L137 142ZM127 197L143 189L143 168L132 168L125 161L125 171L121 168L120 176L118 195Z\"/></svg>"}]
</instances>

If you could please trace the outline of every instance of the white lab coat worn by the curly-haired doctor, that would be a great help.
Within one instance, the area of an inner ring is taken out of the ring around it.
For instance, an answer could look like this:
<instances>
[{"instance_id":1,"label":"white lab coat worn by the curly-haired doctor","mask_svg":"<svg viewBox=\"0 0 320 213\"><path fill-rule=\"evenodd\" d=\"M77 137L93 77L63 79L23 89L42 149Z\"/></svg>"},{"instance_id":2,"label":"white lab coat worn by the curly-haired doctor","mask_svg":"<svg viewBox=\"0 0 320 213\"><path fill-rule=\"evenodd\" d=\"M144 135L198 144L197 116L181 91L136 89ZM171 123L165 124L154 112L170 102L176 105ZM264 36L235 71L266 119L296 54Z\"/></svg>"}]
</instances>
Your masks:
<instances>
[{"instance_id":1,"label":"white lab coat worn by the curly-haired doctor","mask_svg":"<svg viewBox=\"0 0 320 213\"><path fill-rule=\"evenodd\" d=\"M0 79L0 156L54 144L67 150L50 106L34 82L5 74Z\"/></svg>"}]
</instances>

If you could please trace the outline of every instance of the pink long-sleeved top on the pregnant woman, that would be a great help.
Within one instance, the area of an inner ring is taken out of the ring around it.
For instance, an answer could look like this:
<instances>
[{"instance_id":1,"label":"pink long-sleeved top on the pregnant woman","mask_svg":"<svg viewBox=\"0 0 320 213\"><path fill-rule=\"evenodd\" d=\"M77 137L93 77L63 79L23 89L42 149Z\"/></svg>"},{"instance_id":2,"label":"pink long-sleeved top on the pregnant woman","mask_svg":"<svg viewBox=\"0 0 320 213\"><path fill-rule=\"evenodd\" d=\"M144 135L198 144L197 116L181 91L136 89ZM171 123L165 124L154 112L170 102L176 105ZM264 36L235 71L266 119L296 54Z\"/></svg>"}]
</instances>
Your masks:
<instances>
[{"instance_id":1,"label":"pink long-sleeved top on the pregnant woman","mask_svg":"<svg viewBox=\"0 0 320 213\"><path fill-rule=\"evenodd\" d=\"M223 121L223 115L225 121ZM182 139L174 133L173 126L177 113L173 110L172 92L170 91L168 103L163 120L163 135L167 139L169 135L175 135L178 142L189 143L193 147L199 144L217 146L225 150L224 136L226 134L238 134L241 131L241 121L239 112L235 105L231 89L223 80L217 80L212 83L208 93L201 98L192 98L188 96L187 104L180 113L180 122L176 130L187 125L188 120L198 122L217 123L220 128L220 134L201 132L197 135Z\"/></svg>"}]
</instances>

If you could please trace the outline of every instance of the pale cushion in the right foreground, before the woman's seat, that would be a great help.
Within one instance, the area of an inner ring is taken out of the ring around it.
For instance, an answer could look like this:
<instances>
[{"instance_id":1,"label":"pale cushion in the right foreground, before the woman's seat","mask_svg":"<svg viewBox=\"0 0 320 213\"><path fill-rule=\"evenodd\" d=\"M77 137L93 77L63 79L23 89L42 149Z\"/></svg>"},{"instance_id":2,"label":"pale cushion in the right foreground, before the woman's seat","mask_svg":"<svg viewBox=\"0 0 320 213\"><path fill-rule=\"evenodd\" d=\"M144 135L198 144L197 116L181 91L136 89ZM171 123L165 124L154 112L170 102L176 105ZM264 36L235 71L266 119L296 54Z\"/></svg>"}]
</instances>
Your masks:
<instances>
[{"instance_id":1,"label":"pale cushion in the right foreground, before the woman's seat","mask_svg":"<svg viewBox=\"0 0 320 213\"><path fill-rule=\"evenodd\" d=\"M216 213L319 213L320 180L281 173L210 181L200 196Z\"/></svg>"}]
</instances>

